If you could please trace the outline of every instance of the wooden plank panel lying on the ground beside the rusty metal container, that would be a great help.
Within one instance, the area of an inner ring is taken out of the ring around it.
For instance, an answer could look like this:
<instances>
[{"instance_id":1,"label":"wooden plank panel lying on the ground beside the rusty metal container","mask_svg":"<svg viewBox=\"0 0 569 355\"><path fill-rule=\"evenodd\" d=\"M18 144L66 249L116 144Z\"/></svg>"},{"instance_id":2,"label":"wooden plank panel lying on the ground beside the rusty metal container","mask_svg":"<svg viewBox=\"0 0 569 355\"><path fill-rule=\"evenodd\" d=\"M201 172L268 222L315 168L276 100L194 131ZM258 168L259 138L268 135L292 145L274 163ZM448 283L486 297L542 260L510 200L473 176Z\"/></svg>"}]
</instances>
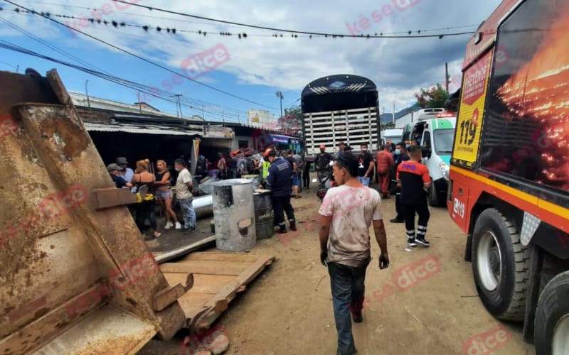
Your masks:
<instances>
[{"instance_id":1,"label":"wooden plank panel lying on the ground beside the rusty metal container","mask_svg":"<svg viewBox=\"0 0 569 355\"><path fill-rule=\"evenodd\" d=\"M225 311L229 302L275 261L275 256L203 251L175 263L160 264L171 286L193 274L193 287L178 299L191 332L202 332Z\"/></svg>"}]
</instances>

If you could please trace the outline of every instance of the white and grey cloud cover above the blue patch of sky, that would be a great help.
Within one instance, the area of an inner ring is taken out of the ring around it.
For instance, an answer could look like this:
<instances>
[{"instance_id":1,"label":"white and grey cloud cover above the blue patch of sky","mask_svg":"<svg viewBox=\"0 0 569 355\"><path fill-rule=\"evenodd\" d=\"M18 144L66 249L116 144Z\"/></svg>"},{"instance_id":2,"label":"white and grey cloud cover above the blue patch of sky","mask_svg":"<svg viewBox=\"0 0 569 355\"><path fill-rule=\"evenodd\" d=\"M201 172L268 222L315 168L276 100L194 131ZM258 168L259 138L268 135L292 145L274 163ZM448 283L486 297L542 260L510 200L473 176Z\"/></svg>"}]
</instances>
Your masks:
<instances>
[{"instance_id":1,"label":"white and grey cloud cover above the blue patch of sky","mask_svg":"<svg viewBox=\"0 0 569 355\"><path fill-rule=\"evenodd\" d=\"M260 26L326 33L348 33L347 26L354 31L354 23L355 28L362 29L361 25L366 25L366 22L361 20L367 18L368 28L363 33L371 34L408 30L422 30L422 34L425 34L425 30L433 28L479 24L499 4L499 0L414 0L415 6L400 9L401 6L410 5L412 1L196 0L190 5L185 0L141 0L139 4ZM26 6L52 13L90 17L92 10L77 6L91 9L102 9L103 6L105 6L103 9L109 9L110 6L114 12L104 17L127 23L150 24L163 28L175 27L178 30L248 33L248 38L242 40L238 40L235 36L227 37L211 33L203 36L178 31L176 35L168 35L156 34L154 31L144 33L139 28L122 28L117 31L97 24L71 20L75 23L74 26L87 33L169 65L173 70L179 70L181 61L188 55L223 43L228 48L230 60L217 70L234 75L236 82L242 84L262 84L274 89L300 92L306 84L324 75L344 73L363 75L376 82L381 102L389 103L385 104L386 110L390 110L393 102L396 106L413 102L413 94L418 92L420 87L443 82L445 62L449 62L451 77L458 74L464 48L469 39L469 35L442 39L309 39L291 38L285 33L282 33L282 38L273 38L270 35L277 32L233 25L212 25L208 21L148 11L136 6L117 11L117 4L110 0L58 0L57 2L68 4L68 7L62 8L50 3L39 5L38 1L21 1ZM391 10L382 10L384 6L389 6ZM59 41L66 44L73 43L74 46L80 43L70 37L69 33L62 36L61 31L56 30L56 26L50 25L46 20L31 21L31 16L23 15L9 16L9 19L25 25L28 29L33 27L34 33L44 38L57 37ZM86 27L81 28L80 25ZM5 27L2 25L0 28L1 35L4 35ZM475 28L476 26L471 26L427 33L474 31ZM259 34L269 36L255 36ZM101 44L87 40L79 45L89 48ZM149 70L159 71L150 66ZM165 72L161 75L168 76ZM206 80L205 78L202 77L201 80ZM380 105L383 106L383 103Z\"/></svg>"}]
</instances>

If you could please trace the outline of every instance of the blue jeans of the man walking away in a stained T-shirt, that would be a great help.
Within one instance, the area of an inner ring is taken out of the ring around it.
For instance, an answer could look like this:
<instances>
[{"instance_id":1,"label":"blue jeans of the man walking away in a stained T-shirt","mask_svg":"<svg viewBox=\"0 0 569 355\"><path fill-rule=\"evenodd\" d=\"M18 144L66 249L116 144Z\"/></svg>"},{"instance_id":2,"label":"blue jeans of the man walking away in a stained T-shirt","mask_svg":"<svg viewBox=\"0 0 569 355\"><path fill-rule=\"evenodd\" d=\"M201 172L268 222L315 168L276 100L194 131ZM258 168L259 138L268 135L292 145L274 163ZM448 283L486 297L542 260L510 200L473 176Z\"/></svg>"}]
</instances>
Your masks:
<instances>
[{"instance_id":1,"label":"blue jeans of the man walking away in a stained T-shirt","mask_svg":"<svg viewBox=\"0 0 569 355\"><path fill-rule=\"evenodd\" d=\"M338 355L353 354L356 347L351 333L350 312L361 312L363 294L366 290L366 266L358 268L339 263L329 263L330 286L332 290L332 305L334 320L338 332Z\"/></svg>"}]
</instances>

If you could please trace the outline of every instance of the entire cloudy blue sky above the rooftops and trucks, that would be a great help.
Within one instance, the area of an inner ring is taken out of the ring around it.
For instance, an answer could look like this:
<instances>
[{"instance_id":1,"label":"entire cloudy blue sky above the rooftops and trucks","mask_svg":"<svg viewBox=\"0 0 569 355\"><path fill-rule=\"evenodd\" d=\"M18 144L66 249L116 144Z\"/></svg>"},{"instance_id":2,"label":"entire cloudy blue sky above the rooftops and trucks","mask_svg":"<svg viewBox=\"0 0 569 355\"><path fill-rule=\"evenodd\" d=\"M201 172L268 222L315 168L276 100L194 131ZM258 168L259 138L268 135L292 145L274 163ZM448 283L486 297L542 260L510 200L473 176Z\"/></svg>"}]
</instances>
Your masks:
<instances>
[{"instance_id":1,"label":"entire cloudy blue sky above the rooftops and trucks","mask_svg":"<svg viewBox=\"0 0 569 355\"><path fill-rule=\"evenodd\" d=\"M450 34L473 32L498 6L499 0L129 0L156 9L314 33L338 34ZM445 80L445 62L450 76L459 80L464 48L470 35L435 38L331 38L246 28L216 23L120 4L112 0L14 0L37 12L49 12L56 21L67 23L158 65L195 78L222 93L161 67L122 53L109 45L31 13L18 13L14 4L0 0L0 38L51 58L120 77L161 90L163 97L181 94L184 115L201 114L206 119L242 120L248 109L267 109L280 114L281 91L284 107L299 104L300 92L312 80L325 75L356 74L368 77L379 88L380 107L398 111L413 104L414 93ZM191 4L191 5L190 5ZM62 18L71 16L75 18ZM83 18L83 19L82 19ZM91 23L87 18L117 21L119 27ZM163 30L156 31L156 27ZM167 33L165 28L176 28ZM206 35L196 33L206 32ZM232 33L219 35L216 33ZM27 34L25 34L27 33ZM246 38L238 38L246 33ZM35 36L35 38L31 37ZM274 35L277 35L275 37ZM282 35L282 37L281 37ZM4 43L6 44L6 43ZM48 45L51 45L49 47ZM55 49L58 51L56 51ZM212 55L213 53L213 55ZM195 66L196 58L211 67ZM194 65L192 65L194 64ZM0 48L0 70L19 72L33 67L44 74L56 68L70 91L119 102L139 101L137 89L122 87L100 77L45 59ZM451 83L451 89L457 84ZM232 94L234 96L231 96ZM245 101L249 100L249 101ZM143 96L142 101L163 111L176 113L176 106L164 99Z\"/></svg>"}]
</instances>

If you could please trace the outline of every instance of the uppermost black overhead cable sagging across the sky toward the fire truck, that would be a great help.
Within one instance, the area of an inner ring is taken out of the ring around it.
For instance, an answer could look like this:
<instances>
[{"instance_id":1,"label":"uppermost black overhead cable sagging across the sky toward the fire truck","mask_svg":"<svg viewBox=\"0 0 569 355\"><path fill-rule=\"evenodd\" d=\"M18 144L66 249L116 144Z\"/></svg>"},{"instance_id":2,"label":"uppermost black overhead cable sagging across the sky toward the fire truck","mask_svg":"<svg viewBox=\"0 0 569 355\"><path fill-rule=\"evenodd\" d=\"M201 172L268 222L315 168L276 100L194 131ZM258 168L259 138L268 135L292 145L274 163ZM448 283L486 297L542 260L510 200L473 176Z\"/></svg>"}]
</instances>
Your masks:
<instances>
[{"instance_id":1,"label":"uppermost black overhead cable sagging across the sky toward the fire truck","mask_svg":"<svg viewBox=\"0 0 569 355\"><path fill-rule=\"evenodd\" d=\"M346 35L344 33L323 33L323 32L299 31L299 30L289 30L286 28L258 26L258 25L252 25L250 23L240 23L240 22L234 22L234 21L220 20L219 18L211 18L211 17L205 17L205 16L192 15L191 13L171 11L171 10L157 8L154 6L146 6L143 4L132 4L128 1L123 1L123 0L112 0L112 1L116 1L116 2L119 2L122 4L129 4L132 6L138 6L138 7L141 7L143 9L148 9L151 11L160 11L160 12L164 12L164 13L171 13L171 14L179 15L179 16L198 18L200 20L213 21L213 22L224 23L224 24L228 24L228 25L236 25L236 26L243 26L243 27L248 27L248 28L257 28L257 29L261 29L261 30L286 32L286 33L294 33L294 34L302 34L302 35L321 35L324 37L332 37L332 38L344 38L344 37L352 37L352 38L428 38L428 37L438 37L438 38L442 38L443 36L466 35L466 34L474 33L474 31L469 31L469 32L460 32L460 33L442 33L442 34L434 34L434 35L412 35L411 34L412 32L409 31L409 35L383 35L383 33L381 33L381 35L377 35L377 33L375 35L371 35L371 34ZM276 36L276 35L274 35L274 36Z\"/></svg>"}]
</instances>

